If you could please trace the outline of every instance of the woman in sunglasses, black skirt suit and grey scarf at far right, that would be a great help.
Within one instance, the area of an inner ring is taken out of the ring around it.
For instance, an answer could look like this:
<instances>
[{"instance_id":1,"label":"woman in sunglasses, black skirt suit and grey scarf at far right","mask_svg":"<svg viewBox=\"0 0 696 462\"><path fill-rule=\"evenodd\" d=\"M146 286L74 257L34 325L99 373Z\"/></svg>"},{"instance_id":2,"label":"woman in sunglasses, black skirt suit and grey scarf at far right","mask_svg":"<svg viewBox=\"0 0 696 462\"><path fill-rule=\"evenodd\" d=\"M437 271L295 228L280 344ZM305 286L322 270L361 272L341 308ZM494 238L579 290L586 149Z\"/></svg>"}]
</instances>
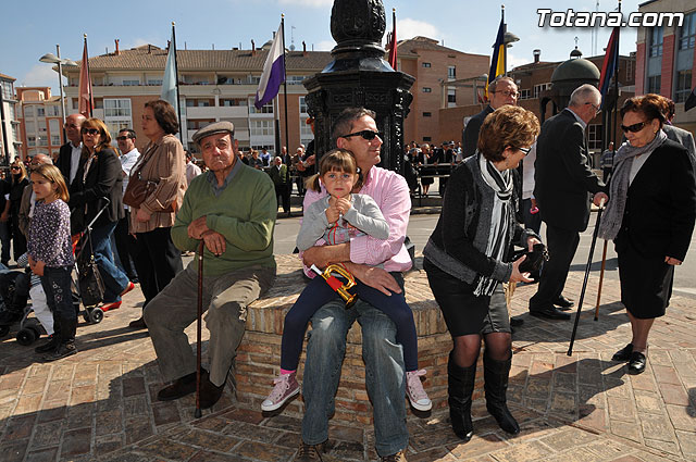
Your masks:
<instances>
[{"instance_id":1,"label":"woman in sunglasses, black skirt suit and grey scarf at far right","mask_svg":"<svg viewBox=\"0 0 696 462\"><path fill-rule=\"evenodd\" d=\"M630 374L645 370L650 327L669 305L674 266L686 257L696 220L694 166L686 149L667 139L661 108L661 97L646 95L621 109L627 142L614 157L599 226L599 237L613 239L619 255L632 338L613 360L629 362Z\"/></svg>"}]
</instances>

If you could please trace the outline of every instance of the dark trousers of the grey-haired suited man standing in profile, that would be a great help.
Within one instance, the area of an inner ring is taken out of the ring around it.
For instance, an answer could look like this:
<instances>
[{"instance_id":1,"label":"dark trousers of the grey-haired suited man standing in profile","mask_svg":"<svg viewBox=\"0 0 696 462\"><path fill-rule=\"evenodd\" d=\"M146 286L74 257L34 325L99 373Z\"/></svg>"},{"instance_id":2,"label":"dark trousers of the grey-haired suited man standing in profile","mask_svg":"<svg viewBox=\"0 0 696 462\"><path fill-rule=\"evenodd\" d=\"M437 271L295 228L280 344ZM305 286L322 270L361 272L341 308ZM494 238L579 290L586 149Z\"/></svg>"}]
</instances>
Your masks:
<instances>
[{"instance_id":1,"label":"dark trousers of the grey-haired suited man standing in profile","mask_svg":"<svg viewBox=\"0 0 696 462\"><path fill-rule=\"evenodd\" d=\"M579 232L546 224L549 260L544 263L539 288L530 299L530 311L547 309L560 297L579 244Z\"/></svg>"}]
</instances>

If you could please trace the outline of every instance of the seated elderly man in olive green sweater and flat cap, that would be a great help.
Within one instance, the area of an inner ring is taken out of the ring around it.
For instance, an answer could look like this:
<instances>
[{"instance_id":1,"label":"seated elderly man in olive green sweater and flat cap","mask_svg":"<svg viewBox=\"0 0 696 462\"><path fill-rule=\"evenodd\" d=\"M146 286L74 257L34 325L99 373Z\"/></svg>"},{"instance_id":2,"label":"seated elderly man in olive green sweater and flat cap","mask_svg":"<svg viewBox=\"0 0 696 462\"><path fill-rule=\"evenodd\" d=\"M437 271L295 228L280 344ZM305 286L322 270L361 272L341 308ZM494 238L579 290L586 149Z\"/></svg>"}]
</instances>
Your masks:
<instances>
[{"instance_id":1,"label":"seated elderly man in olive green sweater and flat cap","mask_svg":"<svg viewBox=\"0 0 696 462\"><path fill-rule=\"evenodd\" d=\"M210 373L201 371L201 408L212 407L225 385L245 330L247 307L273 284L273 228L277 202L273 182L237 159L231 122L194 135L209 171L188 186L172 227L181 250L203 250L203 310L210 330ZM148 304L150 330L162 375L158 392L170 401L196 391L196 359L184 329L196 321L198 262L194 260Z\"/></svg>"}]
</instances>

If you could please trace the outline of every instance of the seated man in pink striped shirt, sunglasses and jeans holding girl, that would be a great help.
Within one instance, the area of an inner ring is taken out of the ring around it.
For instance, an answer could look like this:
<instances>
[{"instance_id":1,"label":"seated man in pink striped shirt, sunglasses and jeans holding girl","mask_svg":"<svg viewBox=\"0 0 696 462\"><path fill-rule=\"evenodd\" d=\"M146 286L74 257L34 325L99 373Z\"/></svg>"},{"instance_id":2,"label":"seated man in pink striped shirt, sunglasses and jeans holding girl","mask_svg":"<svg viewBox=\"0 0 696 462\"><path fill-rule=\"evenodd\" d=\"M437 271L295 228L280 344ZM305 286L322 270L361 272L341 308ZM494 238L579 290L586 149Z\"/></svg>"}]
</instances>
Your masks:
<instances>
[{"instance_id":1,"label":"seated man in pink striped shirt, sunglasses and jeans holding girl","mask_svg":"<svg viewBox=\"0 0 696 462\"><path fill-rule=\"evenodd\" d=\"M403 246L411 199L401 175L377 166L382 139L375 113L362 108L346 109L334 122L332 142L356 157L364 177L362 188L356 192L372 197L380 205L389 224L389 238L380 240L360 236L346 244L310 248L302 254L306 272L312 264L326 267L340 262L364 284L386 295L400 294L403 288L401 272L411 267ZM322 192L308 190L304 209L325 195L323 189ZM377 453L384 461L406 461L403 451L408 446L408 429L401 346L396 342L396 326L391 320L362 300L351 309L346 309L343 301L333 301L312 316L302 384L306 412L296 461L324 460L322 453L328 438L328 415L334 411L346 335L356 321L362 327L365 380L374 407Z\"/></svg>"}]
</instances>

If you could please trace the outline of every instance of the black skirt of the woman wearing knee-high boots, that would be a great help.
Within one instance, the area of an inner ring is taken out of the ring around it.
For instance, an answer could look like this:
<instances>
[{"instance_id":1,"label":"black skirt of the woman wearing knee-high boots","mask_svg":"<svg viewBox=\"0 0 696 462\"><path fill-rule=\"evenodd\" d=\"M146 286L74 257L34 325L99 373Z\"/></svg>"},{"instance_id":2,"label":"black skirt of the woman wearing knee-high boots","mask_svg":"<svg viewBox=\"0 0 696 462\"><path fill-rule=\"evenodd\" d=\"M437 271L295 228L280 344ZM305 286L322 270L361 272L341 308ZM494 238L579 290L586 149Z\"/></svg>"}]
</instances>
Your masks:
<instances>
[{"instance_id":1,"label":"black skirt of the woman wearing knee-high boots","mask_svg":"<svg viewBox=\"0 0 696 462\"><path fill-rule=\"evenodd\" d=\"M510 332L502 284L498 284L492 296L476 297L472 285L444 272L430 260L423 259L423 269L452 337Z\"/></svg>"}]
</instances>

